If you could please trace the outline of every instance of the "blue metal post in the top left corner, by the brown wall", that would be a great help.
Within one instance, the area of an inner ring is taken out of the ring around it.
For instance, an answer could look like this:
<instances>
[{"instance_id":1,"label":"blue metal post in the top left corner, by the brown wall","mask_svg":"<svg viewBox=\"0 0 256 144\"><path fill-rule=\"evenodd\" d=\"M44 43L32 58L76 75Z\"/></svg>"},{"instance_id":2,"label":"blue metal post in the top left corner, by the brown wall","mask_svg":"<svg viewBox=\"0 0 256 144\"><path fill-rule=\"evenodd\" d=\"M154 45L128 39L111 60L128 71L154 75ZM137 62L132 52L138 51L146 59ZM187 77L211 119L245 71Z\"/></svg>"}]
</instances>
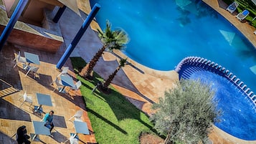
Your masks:
<instances>
[{"instance_id":1,"label":"blue metal post in the top left corner, by the brown wall","mask_svg":"<svg viewBox=\"0 0 256 144\"><path fill-rule=\"evenodd\" d=\"M4 31L1 33L0 51L4 47L4 43L6 42L6 39L9 37L9 34L11 34L11 30L14 29L14 25L16 24L16 21L19 19L19 16L21 16L22 11L24 10L28 1L29 0L19 0L19 3L14 9L14 13L11 14L11 19L9 20L6 27L4 28Z\"/></svg>"}]
</instances>

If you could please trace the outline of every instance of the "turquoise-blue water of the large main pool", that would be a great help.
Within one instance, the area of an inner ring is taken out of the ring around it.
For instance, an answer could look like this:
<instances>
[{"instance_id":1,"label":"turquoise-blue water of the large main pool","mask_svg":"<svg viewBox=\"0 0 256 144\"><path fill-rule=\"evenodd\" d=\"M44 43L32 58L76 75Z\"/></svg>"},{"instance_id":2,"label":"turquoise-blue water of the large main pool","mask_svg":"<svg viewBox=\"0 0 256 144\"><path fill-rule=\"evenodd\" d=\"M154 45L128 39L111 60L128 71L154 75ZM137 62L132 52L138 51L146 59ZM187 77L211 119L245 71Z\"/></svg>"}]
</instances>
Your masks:
<instances>
[{"instance_id":1,"label":"turquoise-blue water of the large main pool","mask_svg":"<svg viewBox=\"0 0 256 144\"><path fill-rule=\"evenodd\" d=\"M136 62L153 69L172 70L184 57L204 57L229 69L256 92L255 47L202 1L91 0L92 6L95 1L101 5L96 15L100 27L105 29L108 19L113 28L120 27L128 32L131 42L123 52ZM240 94L237 97L243 98ZM222 106L232 107L231 102L237 105L236 101L230 101ZM249 105L247 101L245 104L245 107ZM250 115L244 117L251 119ZM233 118L226 117L225 120ZM232 129L235 125L229 123L217 124L221 128L219 125L223 125L222 130L225 127L235 130ZM254 135L247 135L247 139L256 140L256 133L253 132Z\"/></svg>"}]
</instances>

